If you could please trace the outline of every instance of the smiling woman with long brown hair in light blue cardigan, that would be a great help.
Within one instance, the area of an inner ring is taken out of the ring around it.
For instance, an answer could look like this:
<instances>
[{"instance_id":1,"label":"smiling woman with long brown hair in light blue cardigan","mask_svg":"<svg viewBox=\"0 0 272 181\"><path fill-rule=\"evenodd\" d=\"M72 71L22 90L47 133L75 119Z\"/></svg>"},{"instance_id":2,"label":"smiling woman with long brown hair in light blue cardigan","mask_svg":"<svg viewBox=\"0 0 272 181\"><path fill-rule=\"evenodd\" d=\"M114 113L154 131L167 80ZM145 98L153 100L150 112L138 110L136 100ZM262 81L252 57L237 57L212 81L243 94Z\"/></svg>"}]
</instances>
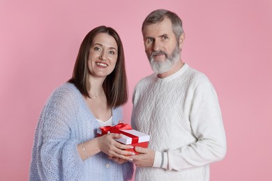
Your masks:
<instances>
[{"instance_id":1,"label":"smiling woman with long brown hair in light blue cardigan","mask_svg":"<svg viewBox=\"0 0 272 181\"><path fill-rule=\"evenodd\" d=\"M98 26L84 38L73 77L52 93L40 115L29 180L128 180L131 155L114 139L96 137L116 125L128 100L123 45L118 33ZM117 163L116 163L117 162Z\"/></svg>"}]
</instances>

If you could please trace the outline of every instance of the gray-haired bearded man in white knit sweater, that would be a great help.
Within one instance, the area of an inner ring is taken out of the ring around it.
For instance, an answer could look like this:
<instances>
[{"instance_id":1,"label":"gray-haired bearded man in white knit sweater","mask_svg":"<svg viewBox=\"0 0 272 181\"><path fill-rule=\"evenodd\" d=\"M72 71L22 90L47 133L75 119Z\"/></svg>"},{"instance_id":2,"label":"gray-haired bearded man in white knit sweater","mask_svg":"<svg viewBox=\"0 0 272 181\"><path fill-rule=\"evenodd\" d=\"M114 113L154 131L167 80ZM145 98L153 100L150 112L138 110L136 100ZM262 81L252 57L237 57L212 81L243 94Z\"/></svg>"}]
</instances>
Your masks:
<instances>
[{"instance_id":1,"label":"gray-haired bearded man in white knit sweater","mask_svg":"<svg viewBox=\"0 0 272 181\"><path fill-rule=\"evenodd\" d=\"M175 13L154 10L142 34L154 73L135 86L131 125L151 139L131 156L135 180L209 180L209 164L226 154L216 91L181 60L185 34Z\"/></svg>"}]
</instances>

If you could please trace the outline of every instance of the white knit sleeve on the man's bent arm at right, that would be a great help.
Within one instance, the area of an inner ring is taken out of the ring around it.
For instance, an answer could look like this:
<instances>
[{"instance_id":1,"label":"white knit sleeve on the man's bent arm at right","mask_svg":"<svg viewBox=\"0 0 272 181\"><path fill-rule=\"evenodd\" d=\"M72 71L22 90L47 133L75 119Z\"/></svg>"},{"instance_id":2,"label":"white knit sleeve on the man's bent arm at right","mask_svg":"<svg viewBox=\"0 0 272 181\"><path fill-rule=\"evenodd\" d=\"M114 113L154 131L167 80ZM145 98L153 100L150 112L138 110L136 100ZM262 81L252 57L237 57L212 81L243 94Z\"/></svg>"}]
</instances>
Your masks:
<instances>
[{"instance_id":1,"label":"white knit sleeve on the man's bent arm at right","mask_svg":"<svg viewBox=\"0 0 272 181\"><path fill-rule=\"evenodd\" d=\"M192 134L197 141L176 150L156 152L157 166L181 171L183 168L204 166L225 157L225 130L218 97L211 82L204 81L195 88L189 116Z\"/></svg>"}]
</instances>

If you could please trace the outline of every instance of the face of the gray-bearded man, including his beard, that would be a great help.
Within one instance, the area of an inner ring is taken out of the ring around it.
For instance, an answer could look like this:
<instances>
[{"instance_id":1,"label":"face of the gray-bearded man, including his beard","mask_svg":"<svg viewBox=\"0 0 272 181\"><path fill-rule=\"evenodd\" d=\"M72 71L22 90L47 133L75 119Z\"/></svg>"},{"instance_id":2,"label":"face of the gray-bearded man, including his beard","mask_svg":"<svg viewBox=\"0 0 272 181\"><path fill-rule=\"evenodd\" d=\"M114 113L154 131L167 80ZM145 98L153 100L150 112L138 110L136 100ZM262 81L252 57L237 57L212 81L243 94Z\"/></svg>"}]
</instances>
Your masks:
<instances>
[{"instance_id":1,"label":"face of the gray-bearded man, including his beard","mask_svg":"<svg viewBox=\"0 0 272 181\"><path fill-rule=\"evenodd\" d=\"M144 47L154 72L161 74L180 61L180 46L172 31L172 22L165 18L143 29Z\"/></svg>"}]
</instances>

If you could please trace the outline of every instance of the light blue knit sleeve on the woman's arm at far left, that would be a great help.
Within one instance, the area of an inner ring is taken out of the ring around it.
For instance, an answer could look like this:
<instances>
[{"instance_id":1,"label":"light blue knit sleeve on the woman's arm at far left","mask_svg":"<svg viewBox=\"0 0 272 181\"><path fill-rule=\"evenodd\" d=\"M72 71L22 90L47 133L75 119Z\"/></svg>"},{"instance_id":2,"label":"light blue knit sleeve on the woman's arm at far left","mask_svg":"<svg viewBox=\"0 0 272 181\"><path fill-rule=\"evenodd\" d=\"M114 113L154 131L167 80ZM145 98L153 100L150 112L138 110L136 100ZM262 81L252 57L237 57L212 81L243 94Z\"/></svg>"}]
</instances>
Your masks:
<instances>
[{"instance_id":1,"label":"light blue knit sleeve on the woman's arm at far left","mask_svg":"<svg viewBox=\"0 0 272 181\"><path fill-rule=\"evenodd\" d=\"M83 161L77 152L77 139L71 139L75 121L76 97L73 91L56 91L47 102L40 127L40 175L42 180L81 180Z\"/></svg>"}]
</instances>

